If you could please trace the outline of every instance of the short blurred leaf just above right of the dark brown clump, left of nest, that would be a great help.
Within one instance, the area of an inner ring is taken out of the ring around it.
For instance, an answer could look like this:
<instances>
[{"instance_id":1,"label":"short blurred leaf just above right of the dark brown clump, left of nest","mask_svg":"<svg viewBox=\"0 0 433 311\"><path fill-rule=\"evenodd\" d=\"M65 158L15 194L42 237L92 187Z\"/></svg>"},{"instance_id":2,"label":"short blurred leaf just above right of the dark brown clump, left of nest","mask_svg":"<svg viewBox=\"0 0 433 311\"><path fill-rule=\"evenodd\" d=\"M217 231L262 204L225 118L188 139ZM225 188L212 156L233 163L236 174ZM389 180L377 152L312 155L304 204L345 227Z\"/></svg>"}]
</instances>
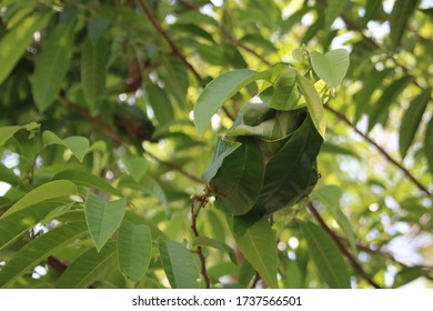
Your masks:
<instances>
[{"instance_id":1,"label":"short blurred leaf just above right of the dark brown clump, left of nest","mask_svg":"<svg viewBox=\"0 0 433 311\"><path fill-rule=\"evenodd\" d=\"M154 83L147 83L145 91L158 122L162 126L172 121L174 119L174 111L167 96L167 91Z\"/></svg>"}]
</instances>

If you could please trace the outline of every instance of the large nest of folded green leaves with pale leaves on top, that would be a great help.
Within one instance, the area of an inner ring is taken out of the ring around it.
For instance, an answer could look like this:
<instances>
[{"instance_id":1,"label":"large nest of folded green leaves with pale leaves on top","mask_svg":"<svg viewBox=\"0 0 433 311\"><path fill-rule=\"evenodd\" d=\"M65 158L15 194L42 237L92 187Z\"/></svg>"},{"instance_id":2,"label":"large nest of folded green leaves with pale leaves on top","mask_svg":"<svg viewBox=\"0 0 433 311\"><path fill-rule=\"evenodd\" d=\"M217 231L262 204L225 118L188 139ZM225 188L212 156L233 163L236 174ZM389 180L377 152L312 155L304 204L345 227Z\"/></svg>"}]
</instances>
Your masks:
<instances>
[{"instance_id":1,"label":"large nest of folded green leaves with pale leaves on top","mask_svg":"<svg viewBox=\"0 0 433 311\"><path fill-rule=\"evenodd\" d=\"M311 62L314 73L335 88L345 76L349 57L343 49L324 56L312 52ZM266 80L263 90L242 107L233 126L218 139L203 173L215 207L243 227L294 205L312 191L325 136L319 92L324 97L326 90L318 90L314 81L282 64L263 72L228 72L209 83L194 109L199 131L229 98L256 80Z\"/></svg>"}]
</instances>

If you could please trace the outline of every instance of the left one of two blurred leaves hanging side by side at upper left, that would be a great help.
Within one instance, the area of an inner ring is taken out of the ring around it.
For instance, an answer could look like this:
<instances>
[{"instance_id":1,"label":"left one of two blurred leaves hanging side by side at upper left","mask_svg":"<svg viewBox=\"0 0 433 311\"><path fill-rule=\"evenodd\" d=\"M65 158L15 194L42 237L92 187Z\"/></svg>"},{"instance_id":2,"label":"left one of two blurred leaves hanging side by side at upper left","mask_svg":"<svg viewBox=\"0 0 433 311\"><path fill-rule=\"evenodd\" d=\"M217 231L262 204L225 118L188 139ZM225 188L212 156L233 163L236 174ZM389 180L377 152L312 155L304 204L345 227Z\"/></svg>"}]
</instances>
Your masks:
<instances>
[{"instance_id":1,"label":"left one of two blurred leaves hanging side by side at upper left","mask_svg":"<svg viewBox=\"0 0 433 311\"><path fill-rule=\"evenodd\" d=\"M31 87L34 102L43 112L57 98L68 72L73 53L73 31L71 27L59 26L47 39L42 52L38 54Z\"/></svg>"}]
</instances>

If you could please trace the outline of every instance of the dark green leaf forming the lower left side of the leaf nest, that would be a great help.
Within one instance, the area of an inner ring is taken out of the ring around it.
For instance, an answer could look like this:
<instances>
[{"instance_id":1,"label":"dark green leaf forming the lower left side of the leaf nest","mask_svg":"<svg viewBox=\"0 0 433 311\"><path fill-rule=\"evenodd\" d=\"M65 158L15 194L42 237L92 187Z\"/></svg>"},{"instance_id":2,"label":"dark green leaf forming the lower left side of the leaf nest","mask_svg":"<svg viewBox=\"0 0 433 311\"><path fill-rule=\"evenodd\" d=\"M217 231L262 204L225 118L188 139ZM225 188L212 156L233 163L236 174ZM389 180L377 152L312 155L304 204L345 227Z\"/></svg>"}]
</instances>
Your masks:
<instances>
[{"instance_id":1,"label":"dark green leaf forming the lower left side of the leaf nest","mask_svg":"<svg viewBox=\"0 0 433 311\"><path fill-rule=\"evenodd\" d=\"M264 164L258 143L240 139L242 146L224 158L209 181L215 207L230 214L244 214L254 204L263 184ZM219 161L219 159L216 159Z\"/></svg>"}]
</instances>

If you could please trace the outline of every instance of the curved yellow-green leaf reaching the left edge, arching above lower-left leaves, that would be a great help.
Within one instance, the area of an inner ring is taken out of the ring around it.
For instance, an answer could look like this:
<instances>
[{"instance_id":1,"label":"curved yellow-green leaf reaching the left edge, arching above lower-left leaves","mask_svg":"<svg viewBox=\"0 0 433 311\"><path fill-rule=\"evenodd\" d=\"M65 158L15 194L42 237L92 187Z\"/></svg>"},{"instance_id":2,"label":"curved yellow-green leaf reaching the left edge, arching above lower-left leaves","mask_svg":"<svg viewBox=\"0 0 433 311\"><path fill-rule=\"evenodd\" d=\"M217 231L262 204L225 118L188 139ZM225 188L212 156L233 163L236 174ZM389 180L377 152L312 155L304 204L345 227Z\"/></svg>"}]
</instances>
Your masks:
<instances>
[{"instance_id":1,"label":"curved yellow-green leaf reaching the left edge, arching above lower-left leaves","mask_svg":"<svg viewBox=\"0 0 433 311\"><path fill-rule=\"evenodd\" d=\"M9 210L7 210L1 217L6 218L9 214L26 209L27 207L37 204L54 198L61 198L66 195L77 194L78 190L74 183L69 180L56 180L47 182L38 188L34 188L24 197L22 197L17 203L14 203Z\"/></svg>"}]
</instances>

